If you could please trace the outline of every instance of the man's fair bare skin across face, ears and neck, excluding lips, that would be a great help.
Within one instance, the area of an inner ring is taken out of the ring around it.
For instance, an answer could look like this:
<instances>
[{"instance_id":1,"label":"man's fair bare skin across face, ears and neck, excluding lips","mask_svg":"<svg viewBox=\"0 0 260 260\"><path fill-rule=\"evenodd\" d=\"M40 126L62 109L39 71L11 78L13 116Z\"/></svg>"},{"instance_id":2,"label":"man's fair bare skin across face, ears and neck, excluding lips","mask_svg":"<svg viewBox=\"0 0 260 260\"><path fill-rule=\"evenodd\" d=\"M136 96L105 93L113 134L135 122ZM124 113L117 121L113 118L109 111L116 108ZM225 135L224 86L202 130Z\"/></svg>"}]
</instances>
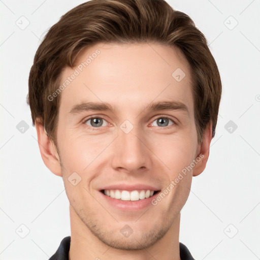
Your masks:
<instances>
[{"instance_id":1,"label":"man's fair bare skin across face, ears and neck, excluding lips","mask_svg":"<svg viewBox=\"0 0 260 260\"><path fill-rule=\"evenodd\" d=\"M158 43L100 43L80 53L77 65L96 49L101 51L98 57L61 93L57 148L43 126L36 124L44 163L62 176L70 201L69 259L179 260L180 211L192 176L206 167L212 127L209 123L199 144L188 62L177 48ZM75 68L64 69L61 82ZM177 68L186 74L180 82L172 77ZM188 113L146 109L157 101L181 102ZM69 113L81 102L107 102L115 110ZM93 127L88 120L92 115L103 118L102 126ZM166 126L157 120L162 117L170 119ZM128 134L120 128L125 120L134 127ZM143 183L163 190L200 154L203 159L156 206L119 210L99 191L116 183ZM73 172L81 177L76 186L68 180ZM133 230L127 238L120 233L125 224Z\"/></svg>"}]
</instances>

